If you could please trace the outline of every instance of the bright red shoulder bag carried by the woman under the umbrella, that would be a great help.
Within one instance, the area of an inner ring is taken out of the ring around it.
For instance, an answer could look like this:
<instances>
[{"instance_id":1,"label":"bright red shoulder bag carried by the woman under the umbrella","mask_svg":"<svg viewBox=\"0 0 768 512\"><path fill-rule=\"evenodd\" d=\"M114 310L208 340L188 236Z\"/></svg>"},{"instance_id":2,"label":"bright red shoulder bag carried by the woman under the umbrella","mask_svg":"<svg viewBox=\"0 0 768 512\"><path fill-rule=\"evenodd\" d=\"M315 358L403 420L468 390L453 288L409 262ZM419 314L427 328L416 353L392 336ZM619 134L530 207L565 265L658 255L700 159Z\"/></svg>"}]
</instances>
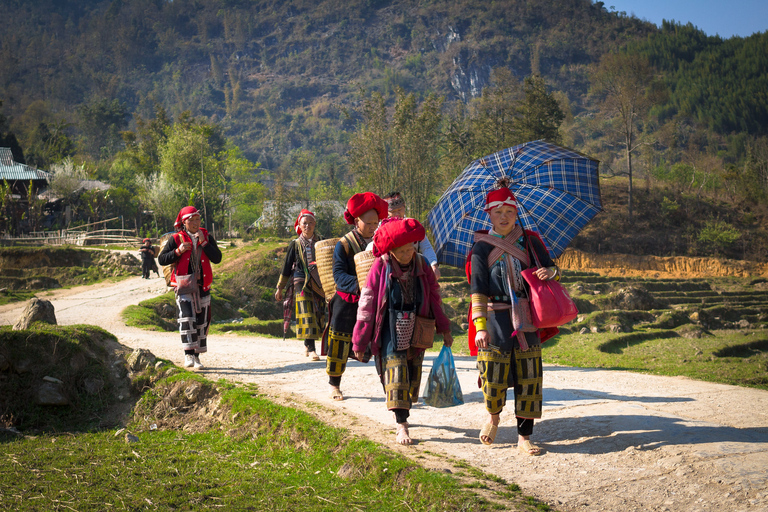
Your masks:
<instances>
[{"instance_id":1,"label":"bright red shoulder bag carried by the woman under the umbrella","mask_svg":"<svg viewBox=\"0 0 768 512\"><path fill-rule=\"evenodd\" d=\"M536 250L531 251L536 259L537 268L541 267ZM567 324L579 314L576 304L568 292L555 280L542 281L536 276L537 268L529 268L521 272L523 279L530 287L531 320L539 329L560 327Z\"/></svg>"}]
</instances>

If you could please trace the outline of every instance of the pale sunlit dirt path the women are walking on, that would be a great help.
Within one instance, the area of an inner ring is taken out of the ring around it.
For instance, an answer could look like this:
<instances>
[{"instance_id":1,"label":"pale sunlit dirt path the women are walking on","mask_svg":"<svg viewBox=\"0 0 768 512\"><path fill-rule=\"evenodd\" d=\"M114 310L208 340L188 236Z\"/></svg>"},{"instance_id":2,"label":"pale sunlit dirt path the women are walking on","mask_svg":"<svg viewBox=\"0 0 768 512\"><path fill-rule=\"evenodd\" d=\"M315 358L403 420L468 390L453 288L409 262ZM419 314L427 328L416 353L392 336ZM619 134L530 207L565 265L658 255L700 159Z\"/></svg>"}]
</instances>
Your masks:
<instances>
[{"instance_id":1,"label":"pale sunlit dirt path the women are walking on","mask_svg":"<svg viewBox=\"0 0 768 512\"><path fill-rule=\"evenodd\" d=\"M119 321L126 305L164 291L162 279L137 277L43 298L53 302L61 324L99 325L129 347L181 364L178 335ZM0 324L13 324L21 307L0 307ZM307 362L298 340L217 335L209 346L202 360L214 380L257 383L280 403L404 453L428 450L466 460L558 510L768 511L768 392L546 365L544 417L533 435L545 453L526 457L515 449L516 429L507 415L496 444L480 444L485 412L477 372L472 358L457 357L466 403L416 406L411 434L419 443L403 448L392 443L394 422L372 364L353 361L342 381L347 399L333 402L324 362ZM425 378L434 355L425 360Z\"/></svg>"}]
</instances>

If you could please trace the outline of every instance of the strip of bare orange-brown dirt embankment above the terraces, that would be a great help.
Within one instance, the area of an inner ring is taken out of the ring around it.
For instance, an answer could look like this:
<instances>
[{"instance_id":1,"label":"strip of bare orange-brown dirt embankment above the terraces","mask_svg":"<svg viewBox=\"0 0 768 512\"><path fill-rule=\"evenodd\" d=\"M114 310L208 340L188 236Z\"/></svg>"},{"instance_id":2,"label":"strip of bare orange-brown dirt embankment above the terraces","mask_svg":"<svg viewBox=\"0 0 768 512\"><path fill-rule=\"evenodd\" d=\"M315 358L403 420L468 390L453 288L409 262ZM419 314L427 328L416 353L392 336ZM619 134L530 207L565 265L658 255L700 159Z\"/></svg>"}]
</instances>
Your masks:
<instances>
[{"instance_id":1,"label":"strip of bare orange-brown dirt embankment above the terraces","mask_svg":"<svg viewBox=\"0 0 768 512\"><path fill-rule=\"evenodd\" d=\"M768 277L768 263L685 256L635 256L632 254L591 254L566 250L558 264L568 270L599 272L611 276L653 277ZM655 275L658 274L658 275Z\"/></svg>"}]
</instances>

